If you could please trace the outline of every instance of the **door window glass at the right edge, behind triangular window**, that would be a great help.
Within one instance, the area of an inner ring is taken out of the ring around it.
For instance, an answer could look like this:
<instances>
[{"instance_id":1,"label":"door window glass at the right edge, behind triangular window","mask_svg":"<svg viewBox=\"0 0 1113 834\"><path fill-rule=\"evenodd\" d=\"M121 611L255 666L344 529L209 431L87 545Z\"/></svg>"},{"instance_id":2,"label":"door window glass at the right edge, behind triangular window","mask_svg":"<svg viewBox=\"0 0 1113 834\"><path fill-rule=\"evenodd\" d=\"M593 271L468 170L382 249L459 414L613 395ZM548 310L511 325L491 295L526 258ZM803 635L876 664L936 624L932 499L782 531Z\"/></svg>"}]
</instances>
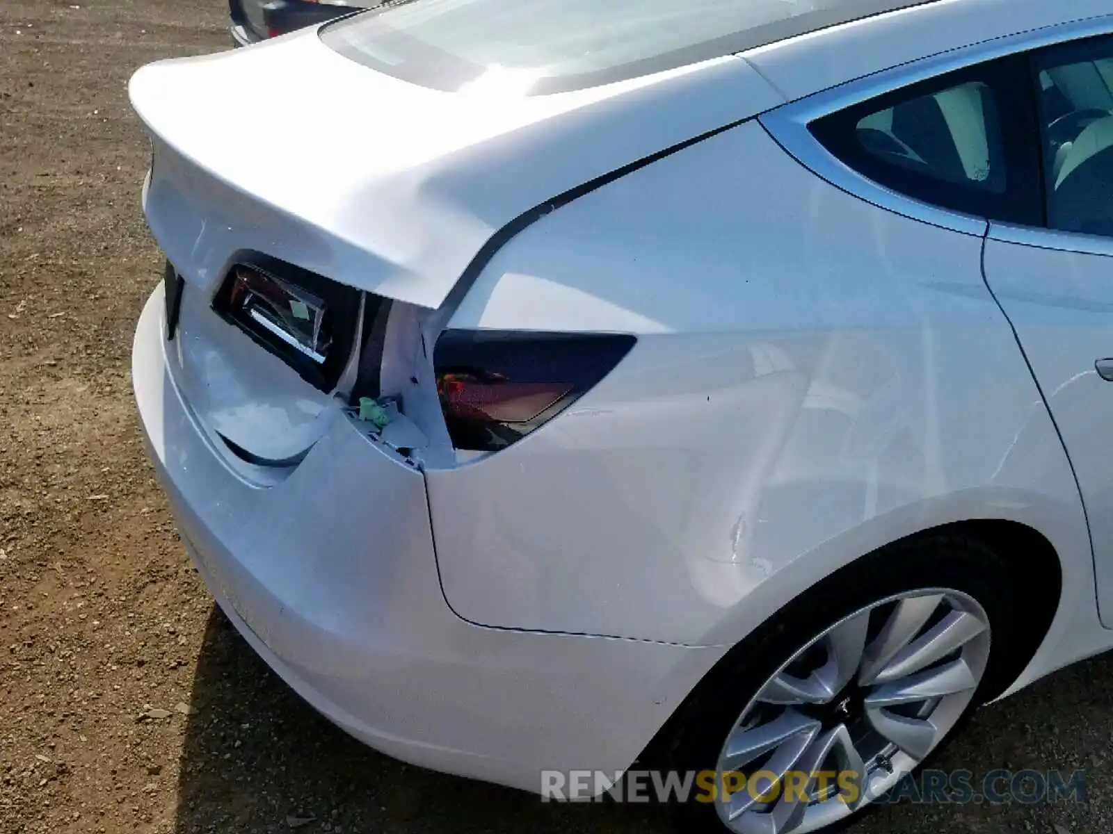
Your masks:
<instances>
[{"instance_id":1,"label":"door window glass at the right edge, behind triangular window","mask_svg":"<svg viewBox=\"0 0 1113 834\"><path fill-rule=\"evenodd\" d=\"M1047 226L1113 235L1113 39L1035 57Z\"/></svg>"}]
</instances>

